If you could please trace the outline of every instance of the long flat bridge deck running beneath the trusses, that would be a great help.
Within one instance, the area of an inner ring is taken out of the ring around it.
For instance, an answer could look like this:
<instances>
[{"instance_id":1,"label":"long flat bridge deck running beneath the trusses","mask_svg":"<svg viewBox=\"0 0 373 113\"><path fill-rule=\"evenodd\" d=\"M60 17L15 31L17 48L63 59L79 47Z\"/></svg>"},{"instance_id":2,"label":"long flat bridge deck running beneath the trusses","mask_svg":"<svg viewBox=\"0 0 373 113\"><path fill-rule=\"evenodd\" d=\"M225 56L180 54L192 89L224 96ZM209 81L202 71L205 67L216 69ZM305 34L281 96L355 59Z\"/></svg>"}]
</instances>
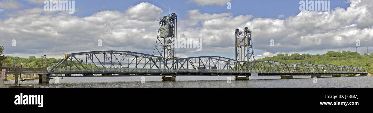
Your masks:
<instances>
[{"instance_id":1,"label":"long flat bridge deck running beneath the trusses","mask_svg":"<svg viewBox=\"0 0 373 113\"><path fill-rule=\"evenodd\" d=\"M260 70L219 70L219 69L138 69L138 68L50 68L47 74L120 74L121 76L164 76L164 75L235 75L258 76L272 75L330 75L330 74L366 74L367 72L315 72L315 71L260 71ZM136 75L130 75L136 74ZM161 75L162 74L162 75Z\"/></svg>"}]
</instances>

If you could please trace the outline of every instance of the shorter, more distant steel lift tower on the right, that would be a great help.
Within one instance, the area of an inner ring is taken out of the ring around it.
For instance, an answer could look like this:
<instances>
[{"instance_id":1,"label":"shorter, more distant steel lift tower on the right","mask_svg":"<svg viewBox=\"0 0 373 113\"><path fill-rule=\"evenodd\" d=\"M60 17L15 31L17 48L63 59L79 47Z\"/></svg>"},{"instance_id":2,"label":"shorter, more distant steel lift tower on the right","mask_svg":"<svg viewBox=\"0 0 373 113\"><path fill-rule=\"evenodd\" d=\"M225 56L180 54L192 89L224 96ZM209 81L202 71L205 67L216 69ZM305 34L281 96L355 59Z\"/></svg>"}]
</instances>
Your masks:
<instances>
[{"instance_id":1,"label":"shorter, more distant steel lift tower on the right","mask_svg":"<svg viewBox=\"0 0 373 113\"><path fill-rule=\"evenodd\" d=\"M245 27L244 30L235 30L236 37L236 60L249 62L255 61L253 51L253 41L251 38L251 30Z\"/></svg>"}]
</instances>

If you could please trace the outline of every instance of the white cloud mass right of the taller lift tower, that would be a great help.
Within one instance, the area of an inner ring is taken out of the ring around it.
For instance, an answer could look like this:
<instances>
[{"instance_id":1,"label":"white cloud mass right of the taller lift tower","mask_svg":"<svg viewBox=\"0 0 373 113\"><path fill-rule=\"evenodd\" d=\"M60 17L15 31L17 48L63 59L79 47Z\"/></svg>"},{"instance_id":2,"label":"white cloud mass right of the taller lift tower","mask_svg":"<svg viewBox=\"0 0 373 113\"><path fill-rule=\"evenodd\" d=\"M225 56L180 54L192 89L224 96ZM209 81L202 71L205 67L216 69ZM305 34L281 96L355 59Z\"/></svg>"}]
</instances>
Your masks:
<instances>
[{"instance_id":1,"label":"white cloud mass right of the taller lift tower","mask_svg":"<svg viewBox=\"0 0 373 113\"><path fill-rule=\"evenodd\" d=\"M188 18L181 21L179 34L184 37L202 37L203 50L198 52L229 52L234 50L234 29L240 20L253 31L254 49L271 56L318 50L351 50L356 40L372 43L373 1L348 1L347 9L335 8L331 13L301 11L296 16L282 19L253 18L251 15L233 16L231 13L207 14L189 10ZM279 17L282 17L281 15ZM186 24L187 23L187 24ZM275 40L275 47L270 40ZM179 51L179 50L178 50ZM195 53L197 51L186 50ZM260 56L259 56L260 57Z\"/></svg>"}]
</instances>

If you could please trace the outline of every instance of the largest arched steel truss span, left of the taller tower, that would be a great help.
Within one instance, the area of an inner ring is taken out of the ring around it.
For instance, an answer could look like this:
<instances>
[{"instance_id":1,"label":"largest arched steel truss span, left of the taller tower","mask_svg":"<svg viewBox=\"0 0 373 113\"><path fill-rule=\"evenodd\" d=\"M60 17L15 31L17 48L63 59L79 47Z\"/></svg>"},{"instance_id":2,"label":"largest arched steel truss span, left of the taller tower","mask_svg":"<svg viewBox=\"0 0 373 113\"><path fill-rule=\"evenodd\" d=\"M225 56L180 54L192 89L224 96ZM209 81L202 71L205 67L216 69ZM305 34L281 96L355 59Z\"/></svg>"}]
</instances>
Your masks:
<instances>
[{"instance_id":1,"label":"largest arched steel truss span, left of the taller tower","mask_svg":"<svg viewBox=\"0 0 373 113\"><path fill-rule=\"evenodd\" d=\"M72 53L61 60L56 67L84 67L84 68L162 68L169 67L159 56L136 53L131 51L90 51Z\"/></svg>"}]
</instances>

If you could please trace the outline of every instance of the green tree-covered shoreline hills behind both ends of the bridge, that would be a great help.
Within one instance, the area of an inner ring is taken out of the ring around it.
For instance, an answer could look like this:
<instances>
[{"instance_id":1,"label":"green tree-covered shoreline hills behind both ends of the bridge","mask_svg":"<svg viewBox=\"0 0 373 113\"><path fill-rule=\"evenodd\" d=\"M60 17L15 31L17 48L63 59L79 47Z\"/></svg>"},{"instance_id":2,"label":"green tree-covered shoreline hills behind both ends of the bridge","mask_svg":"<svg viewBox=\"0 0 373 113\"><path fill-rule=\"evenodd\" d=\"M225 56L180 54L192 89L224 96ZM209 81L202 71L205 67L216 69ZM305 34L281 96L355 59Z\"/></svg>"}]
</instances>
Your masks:
<instances>
[{"instance_id":1,"label":"green tree-covered shoreline hills behind both ends of the bridge","mask_svg":"<svg viewBox=\"0 0 373 113\"><path fill-rule=\"evenodd\" d=\"M44 67L44 56L35 57L29 56L28 58L22 57L12 57L12 56L4 56L3 54L4 47L0 46L0 66L2 64L6 66L11 66L12 64L20 64L23 63L23 67ZM46 67L53 67L62 59L55 59L55 58L48 58L46 59ZM333 64L336 66L352 66L357 67L361 66L368 72L373 74L373 53L370 54L359 54L357 52L351 51L327 51L325 54L300 54L300 53L293 53L289 54L282 54L279 53L273 57L264 57L262 59L257 60L275 60L278 62L291 64L291 63L312 63L316 65L321 64ZM77 63L77 61L73 61ZM81 67L77 65L78 67ZM66 64L62 64L60 67L66 67ZM69 64L68 66L69 67ZM72 66L76 67L76 66ZM87 67L91 67L91 64L87 64ZM95 67L95 66L93 66ZM101 67L99 67L101 68Z\"/></svg>"}]
</instances>

